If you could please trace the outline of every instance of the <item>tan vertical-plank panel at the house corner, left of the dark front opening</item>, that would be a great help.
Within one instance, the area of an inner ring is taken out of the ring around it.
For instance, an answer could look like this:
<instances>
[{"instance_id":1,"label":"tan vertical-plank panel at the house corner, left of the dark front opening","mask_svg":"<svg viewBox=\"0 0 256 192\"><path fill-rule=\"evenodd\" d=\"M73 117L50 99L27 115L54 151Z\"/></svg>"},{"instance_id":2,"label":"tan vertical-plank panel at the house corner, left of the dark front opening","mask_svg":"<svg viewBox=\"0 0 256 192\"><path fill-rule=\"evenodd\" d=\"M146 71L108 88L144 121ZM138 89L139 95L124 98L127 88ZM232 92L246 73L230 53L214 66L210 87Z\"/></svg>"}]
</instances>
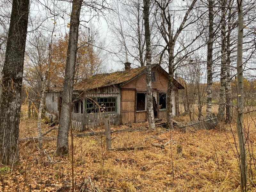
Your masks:
<instances>
[{"instance_id":1,"label":"tan vertical-plank panel at the house corner, left of the dark front opening","mask_svg":"<svg viewBox=\"0 0 256 192\"><path fill-rule=\"evenodd\" d=\"M122 90L122 123L134 122L135 90Z\"/></svg>"}]
</instances>

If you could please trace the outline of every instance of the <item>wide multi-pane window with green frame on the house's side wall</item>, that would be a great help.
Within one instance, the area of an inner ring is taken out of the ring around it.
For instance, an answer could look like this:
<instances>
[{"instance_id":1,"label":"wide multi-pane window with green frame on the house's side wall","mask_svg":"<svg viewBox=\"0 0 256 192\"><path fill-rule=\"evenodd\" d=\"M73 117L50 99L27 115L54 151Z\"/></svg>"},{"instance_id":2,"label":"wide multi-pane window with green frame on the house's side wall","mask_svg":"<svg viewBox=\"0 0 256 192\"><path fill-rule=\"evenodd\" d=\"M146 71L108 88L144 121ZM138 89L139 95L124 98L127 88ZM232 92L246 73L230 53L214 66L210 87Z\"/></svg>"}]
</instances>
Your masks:
<instances>
[{"instance_id":1,"label":"wide multi-pane window with green frame on the house's side wall","mask_svg":"<svg viewBox=\"0 0 256 192\"><path fill-rule=\"evenodd\" d=\"M116 112L116 98L87 98L86 113Z\"/></svg>"}]
</instances>

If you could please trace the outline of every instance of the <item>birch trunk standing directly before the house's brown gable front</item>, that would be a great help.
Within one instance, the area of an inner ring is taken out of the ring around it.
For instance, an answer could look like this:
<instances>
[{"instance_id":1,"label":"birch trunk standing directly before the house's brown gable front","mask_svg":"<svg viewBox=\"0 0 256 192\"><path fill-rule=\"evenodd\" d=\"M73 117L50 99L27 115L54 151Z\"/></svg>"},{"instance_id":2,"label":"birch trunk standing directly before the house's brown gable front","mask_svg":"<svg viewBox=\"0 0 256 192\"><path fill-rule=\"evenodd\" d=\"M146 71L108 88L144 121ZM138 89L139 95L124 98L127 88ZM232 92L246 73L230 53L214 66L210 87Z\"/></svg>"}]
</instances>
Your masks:
<instances>
[{"instance_id":1,"label":"birch trunk standing directly before the house's brown gable front","mask_svg":"<svg viewBox=\"0 0 256 192\"><path fill-rule=\"evenodd\" d=\"M153 110L153 96L152 96L152 82L151 82L151 42L150 42L150 28L149 28L149 0L143 0L144 4L144 26L146 39L146 80L147 80L147 112L148 125L150 130L155 130L155 118Z\"/></svg>"}]
</instances>

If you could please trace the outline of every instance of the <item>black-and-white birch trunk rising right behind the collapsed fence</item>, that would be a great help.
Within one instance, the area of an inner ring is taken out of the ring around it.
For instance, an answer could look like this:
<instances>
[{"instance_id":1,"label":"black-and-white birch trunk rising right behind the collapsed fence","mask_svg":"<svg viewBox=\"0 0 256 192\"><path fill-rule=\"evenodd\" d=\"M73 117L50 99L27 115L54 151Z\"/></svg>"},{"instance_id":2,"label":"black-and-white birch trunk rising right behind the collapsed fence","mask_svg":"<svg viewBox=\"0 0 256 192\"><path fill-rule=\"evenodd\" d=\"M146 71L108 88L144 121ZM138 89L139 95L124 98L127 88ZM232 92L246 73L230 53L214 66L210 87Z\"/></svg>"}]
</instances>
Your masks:
<instances>
[{"instance_id":1,"label":"black-and-white birch trunk rising right behind the collapsed fence","mask_svg":"<svg viewBox=\"0 0 256 192\"><path fill-rule=\"evenodd\" d=\"M206 116L212 114L212 44L213 44L213 5L214 0L209 0L209 39L207 43L207 87L206 87Z\"/></svg>"}]
</instances>

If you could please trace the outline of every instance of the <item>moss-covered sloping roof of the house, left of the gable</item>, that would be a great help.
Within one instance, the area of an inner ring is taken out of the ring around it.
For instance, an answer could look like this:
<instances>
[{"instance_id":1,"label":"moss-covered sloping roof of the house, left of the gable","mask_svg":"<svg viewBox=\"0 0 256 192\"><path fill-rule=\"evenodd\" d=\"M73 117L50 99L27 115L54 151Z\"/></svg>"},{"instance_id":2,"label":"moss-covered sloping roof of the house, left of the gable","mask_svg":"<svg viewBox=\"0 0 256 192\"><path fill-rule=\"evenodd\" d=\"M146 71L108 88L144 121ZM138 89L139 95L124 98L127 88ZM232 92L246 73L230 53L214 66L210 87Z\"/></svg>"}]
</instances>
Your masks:
<instances>
[{"instance_id":1,"label":"moss-covered sloping roof of the house, left of the gable","mask_svg":"<svg viewBox=\"0 0 256 192\"><path fill-rule=\"evenodd\" d=\"M97 87L122 84L139 75L145 69L146 67L144 66L126 71L116 71L114 73L94 75L89 79L85 79L74 84L74 91L85 91L88 89L95 89Z\"/></svg>"}]
</instances>

